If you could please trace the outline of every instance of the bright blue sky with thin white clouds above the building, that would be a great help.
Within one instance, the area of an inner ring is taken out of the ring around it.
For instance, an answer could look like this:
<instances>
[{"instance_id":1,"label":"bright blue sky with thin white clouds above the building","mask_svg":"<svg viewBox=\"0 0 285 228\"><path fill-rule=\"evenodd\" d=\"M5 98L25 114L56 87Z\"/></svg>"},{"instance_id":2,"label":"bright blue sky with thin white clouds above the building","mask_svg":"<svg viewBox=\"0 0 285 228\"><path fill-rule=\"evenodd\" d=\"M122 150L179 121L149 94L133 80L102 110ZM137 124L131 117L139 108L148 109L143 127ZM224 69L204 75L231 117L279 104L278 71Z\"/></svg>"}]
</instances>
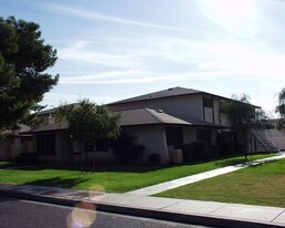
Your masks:
<instances>
[{"instance_id":1,"label":"bright blue sky with thin white clouds above the building","mask_svg":"<svg viewBox=\"0 0 285 228\"><path fill-rule=\"evenodd\" d=\"M102 104L183 86L274 114L285 86L285 1L0 0L1 15L40 24L57 50L48 107Z\"/></svg>"}]
</instances>

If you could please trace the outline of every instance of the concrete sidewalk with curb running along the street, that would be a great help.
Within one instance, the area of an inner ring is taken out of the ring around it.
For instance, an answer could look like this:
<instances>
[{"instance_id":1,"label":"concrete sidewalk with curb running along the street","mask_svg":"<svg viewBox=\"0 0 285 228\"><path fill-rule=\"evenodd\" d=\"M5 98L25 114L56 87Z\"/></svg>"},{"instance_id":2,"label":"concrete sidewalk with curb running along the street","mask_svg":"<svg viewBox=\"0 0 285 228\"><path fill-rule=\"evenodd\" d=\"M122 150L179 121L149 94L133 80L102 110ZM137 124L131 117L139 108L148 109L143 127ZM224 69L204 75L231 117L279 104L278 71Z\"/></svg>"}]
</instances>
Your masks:
<instances>
[{"instance_id":1,"label":"concrete sidewalk with curb running along the street","mask_svg":"<svg viewBox=\"0 0 285 228\"><path fill-rule=\"evenodd\" d=\"M285 227L285 208L0 184L0 195L65 206L215 227ZM83 204L81 204L83 205ZM86 207L89 208L89 207Z\"/></svg>"}]
</instances>

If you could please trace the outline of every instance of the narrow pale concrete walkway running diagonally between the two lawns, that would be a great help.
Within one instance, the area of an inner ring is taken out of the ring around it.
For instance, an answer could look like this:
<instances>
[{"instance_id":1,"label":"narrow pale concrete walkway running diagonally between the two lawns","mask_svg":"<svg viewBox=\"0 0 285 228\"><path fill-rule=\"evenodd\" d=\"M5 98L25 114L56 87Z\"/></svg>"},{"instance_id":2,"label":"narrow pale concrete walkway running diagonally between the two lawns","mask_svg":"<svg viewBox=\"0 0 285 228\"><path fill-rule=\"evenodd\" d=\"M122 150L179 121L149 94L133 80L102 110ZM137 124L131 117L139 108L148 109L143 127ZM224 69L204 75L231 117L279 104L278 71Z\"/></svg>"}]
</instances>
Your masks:
<instances>
[{"instance_id":1,"label":"narrow pale concrete walkway running diagonally between the two lawns","mask_svg":"<svg viewBox=\"0 0 285 228\"><path fill-rule=\"evenodd\" d=\"M201 174L191 175L191 176L188 176L188 177L182 177L182 178L179 178L179 179L173 179L173 180L170 180L170 182L161 183L161 184L149 186L149 187L146 187L146 188L131 190L131 191L128 191L127 194L139 195L139 196L151 196L151 195L155 195L155 194L158 194L158 193L162 193L162 191L170 190L170 189L173 189L173 188L177 188L177 187L181 187L181 186L184 186L184 185L197 183L197 182L200 182L200 180L203 180L203 179L212 178L212 177L220 176L220 175L223 175L223 174L228 174L228 173L231 173L231 172L235 172L235 170L239 170L239 169L242 169L242 168L246 168L249 166L254 166L254 165L258 165L261 163L266 163L266 162L271 162L271 160L277 160L277 159L281 159L281 158L285 158L285 153L282 153L282 154L279 154L277 156L274 156L274 157L257 159L257 160L250 162L250 163L239 164L239 165L234 165L234 166L228 166L228 167L209 170L209 172L201 173Z\"/></svg>"}]
</instances>

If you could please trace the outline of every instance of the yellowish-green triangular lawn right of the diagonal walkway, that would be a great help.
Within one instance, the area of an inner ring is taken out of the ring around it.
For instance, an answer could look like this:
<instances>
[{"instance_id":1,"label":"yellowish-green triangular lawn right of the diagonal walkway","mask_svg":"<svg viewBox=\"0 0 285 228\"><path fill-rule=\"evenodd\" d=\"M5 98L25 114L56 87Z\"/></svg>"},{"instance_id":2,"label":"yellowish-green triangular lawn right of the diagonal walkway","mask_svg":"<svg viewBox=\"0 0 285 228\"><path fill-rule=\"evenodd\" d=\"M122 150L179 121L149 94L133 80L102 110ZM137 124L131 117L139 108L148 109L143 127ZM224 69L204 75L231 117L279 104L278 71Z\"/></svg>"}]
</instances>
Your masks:
<instances>
[{"instance_id":1,"label":"yellowish-green triangular lawn right of the diagonal walkway","mask_svg":"<svg viewBox=\"0 0 285 228\"><path fill-rule=\"evenodd\" d=\"M156 196L285 207L285 159L244 168Z\"/></svg>"}]
</instances>

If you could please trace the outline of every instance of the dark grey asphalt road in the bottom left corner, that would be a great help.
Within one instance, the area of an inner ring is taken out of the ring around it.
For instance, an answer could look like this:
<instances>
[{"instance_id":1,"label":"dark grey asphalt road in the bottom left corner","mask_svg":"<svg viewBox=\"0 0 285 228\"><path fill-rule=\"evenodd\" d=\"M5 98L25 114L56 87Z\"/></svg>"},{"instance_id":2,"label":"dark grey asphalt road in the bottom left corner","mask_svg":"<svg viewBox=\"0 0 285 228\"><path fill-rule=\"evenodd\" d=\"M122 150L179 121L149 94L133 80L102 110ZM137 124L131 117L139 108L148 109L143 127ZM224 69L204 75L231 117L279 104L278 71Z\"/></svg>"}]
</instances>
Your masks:
<instances>
[{"instance_id":1,"label":"dark grey asphalt road in the bottom left corner","mask_svg":"<svg viewBox=\"0 0 285 228\"><path fill-rule=\"evenodd\" d=\"M155 219L0 197L0 228L202 228Z\"/></svg>"}]
</instances>

